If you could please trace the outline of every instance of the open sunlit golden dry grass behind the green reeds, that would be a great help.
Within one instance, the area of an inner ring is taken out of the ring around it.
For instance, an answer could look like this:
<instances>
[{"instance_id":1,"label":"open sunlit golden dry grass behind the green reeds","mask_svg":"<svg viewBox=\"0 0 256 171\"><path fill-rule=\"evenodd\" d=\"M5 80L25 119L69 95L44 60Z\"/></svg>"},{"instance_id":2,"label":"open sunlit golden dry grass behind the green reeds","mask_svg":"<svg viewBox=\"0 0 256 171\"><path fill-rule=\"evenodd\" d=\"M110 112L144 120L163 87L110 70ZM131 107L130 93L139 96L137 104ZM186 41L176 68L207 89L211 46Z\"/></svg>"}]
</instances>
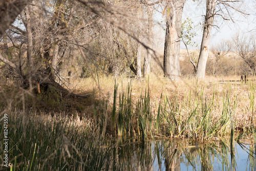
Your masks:
<instances>
[{"instance_id":1,"label":"open sunlit golden dry grass behind the green reeds","mask_svg":"<svg viewBox=\"0 0 256 171\"><path fill-rule=\"evenodd\" d=\"M252 78L251 78L252 79ZM180 118L186 118L192 108L196 108L199 98L206 100L209 103L214 101L212 111L213 119L217 122L223 112L223 100L226 94L230 91L229 102L232 110L234 101L237 98L237 107L235 110L234 119L239 130L248 129L252 124L256 124L254 111L250 109L250 88L255 86L255 81L249 81L246 84L241 83L239 76L227 77L207 77L205 80L197 80L195 78L182 78L177 81L171 81L165 78L158 77L154 74L148 78L131 79L127 77L99 77L72 80L70 89L75 93L84 94L86 92L95 92L95 98L107 98L109 96L110 105L113 104L114 84L119 84L118 96L122 89L125 91L127 83L132 81L132 99L137 101L145 90L150 91L152 110L157 113L158 104L161 93L170 100L177 100L181 108ZM219 80L238 80L238 82L219 82ZM121 89L122 87L122 89ZM190 104L188 101L190 100ZM213 99L212 99L213 98ZM117 98L118 99L118 98ZM199 100L200 101L200 100ZM202 100L201 100L202 102Z\"/></svg>"}]
</instances>

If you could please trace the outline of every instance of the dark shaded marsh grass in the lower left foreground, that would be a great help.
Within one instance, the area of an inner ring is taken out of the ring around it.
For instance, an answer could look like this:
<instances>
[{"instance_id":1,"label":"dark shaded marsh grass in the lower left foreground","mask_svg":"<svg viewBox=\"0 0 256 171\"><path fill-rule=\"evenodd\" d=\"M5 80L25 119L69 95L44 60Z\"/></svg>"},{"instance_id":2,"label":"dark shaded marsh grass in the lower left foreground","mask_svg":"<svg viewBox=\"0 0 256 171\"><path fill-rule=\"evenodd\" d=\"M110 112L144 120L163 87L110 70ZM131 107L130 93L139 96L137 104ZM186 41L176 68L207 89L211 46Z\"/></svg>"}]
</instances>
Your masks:
<instances>
[{"instance_id":1,"label":"dark shaded marsh grass in the lower left foreground","mask_svg":"<svg viewBox=\"0 0 256 171\"><path fill-rule=\"evenodd\" d=\"M12 170L111 168L115 145L100 136L92 120L68 118L65 114L28 116L14 111L9 115L9 125Z\"/></svg>"}]
</instances>

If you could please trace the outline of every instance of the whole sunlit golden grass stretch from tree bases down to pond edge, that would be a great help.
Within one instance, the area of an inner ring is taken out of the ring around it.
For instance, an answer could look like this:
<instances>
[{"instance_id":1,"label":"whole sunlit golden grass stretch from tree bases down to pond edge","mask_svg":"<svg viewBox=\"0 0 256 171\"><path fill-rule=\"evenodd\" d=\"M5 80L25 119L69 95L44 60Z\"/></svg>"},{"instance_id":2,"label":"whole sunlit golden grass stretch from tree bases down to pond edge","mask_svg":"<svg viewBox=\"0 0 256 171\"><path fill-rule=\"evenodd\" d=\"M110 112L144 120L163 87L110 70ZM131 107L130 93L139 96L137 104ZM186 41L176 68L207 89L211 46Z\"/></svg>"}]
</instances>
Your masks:
<instances>
[{"instance_id":1,"label":"whole sunlit golden grass stretch from tree bases down to pond edge","mask_svg":"<svg viewBox=\"0 0 256 171\"><path fill-rule=\"evenodd\" d=\"M109 97L110 106L113 105L115 100L119 101L115 102L117 113L123 107L120 99L125 101L123 98L127 98L132 101L132 106L130 106L133 111L132 115L134 115L132 120L133 122L136 121L140 130L143 130L142 127L146 125L139 125L141 117L139 116L140 111L138 111L138 108L143 111L141 103L145 101L148 110L143 113L146 113L146 116L151 118L151 120L148 120L148 124L150 124L148 126L148 130L150 130L148 134L150 135L159 133L155 130L161 127L162 130L159 134L166 137L185 136L210 139L230 133L230 118L232 118L236 132L248 131L255 124L253 107L255 105L253 95L255 81L251 80L247 83L242 83L239 81L238 76L224 78L236 79L238 80L237 82L223 83L218 81L222 79L208 77L204 81L188 78L170 81L156 75L133 80L121 76L117 79L99 77L97 82L92 78L76 80L77 82L74 82L74 84L77 86L72 88L77 93L79 91L82 92L83 89L84 91L91 89L91 92L95 92L96 98L99 95L101 97ZM115 81L116 84L119 84L119 87L114 94ZM131 92L123 93L123 91L127 90L128 84L129 87L131 86L129 90ZM146 101L148 99L150 99L149 102ZM160 116L161 119L159 119ZM220 121L223 123L220 123ZM222 126L215 127L216 125ZM205 135L205 132L208 132L207 134L209 135ZM139 131L137 133L140 135Z\"/></svg>"}]
</instances>

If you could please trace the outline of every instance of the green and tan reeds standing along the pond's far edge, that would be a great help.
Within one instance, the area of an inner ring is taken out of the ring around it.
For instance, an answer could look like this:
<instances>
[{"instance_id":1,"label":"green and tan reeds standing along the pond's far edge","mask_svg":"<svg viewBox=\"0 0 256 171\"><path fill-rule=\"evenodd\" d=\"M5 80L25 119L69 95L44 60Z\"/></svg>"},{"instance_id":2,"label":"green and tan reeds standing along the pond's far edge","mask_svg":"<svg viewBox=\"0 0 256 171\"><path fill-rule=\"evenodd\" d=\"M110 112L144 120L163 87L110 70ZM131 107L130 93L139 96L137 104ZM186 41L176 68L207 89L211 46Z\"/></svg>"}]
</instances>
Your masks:
<instances>
[{"instance_id":1,"label":"green and tan reeds standing along the pond's far edge","mask_svg":"<svg viewBox=\"0 0 256 171\"><path fill-rule=\"evenodd\" d=\"M233 140L239 141L254 131L254 84L248 83L241 87L243 91L246 87L249 91L247 104L250 107L247 111L251 114L247 125L243 125L241 116L246 113L240 111L238 114L237 111L242 107L246 109L246 105L242 106L240 103L240 109L237 109L239 102L244 101L241 101L243 98L238 94L239 88L236 89L236 85L233 87L229 84L219 91L220 85L211 83L211 89L207 90L207 84L195 80L193 89L180 95L179 89L184 88L177 83L178 86L173 93L171 91L172 94L163 95L161 92L161 96L155 97L153 102L152 88L148 80L146 79L147 85L140 96L132 93L133 81L136 80L129 80L126 88L123 88L122 82L121 90L118 90L117 80L115 81L113 100L110 99L113 103L110 102L112 110L109 127L117 136L140 136L144 142L148 137L154 139L159 136L208 141L229 135L232 144Z\"/></svg>"}]
</instances>

